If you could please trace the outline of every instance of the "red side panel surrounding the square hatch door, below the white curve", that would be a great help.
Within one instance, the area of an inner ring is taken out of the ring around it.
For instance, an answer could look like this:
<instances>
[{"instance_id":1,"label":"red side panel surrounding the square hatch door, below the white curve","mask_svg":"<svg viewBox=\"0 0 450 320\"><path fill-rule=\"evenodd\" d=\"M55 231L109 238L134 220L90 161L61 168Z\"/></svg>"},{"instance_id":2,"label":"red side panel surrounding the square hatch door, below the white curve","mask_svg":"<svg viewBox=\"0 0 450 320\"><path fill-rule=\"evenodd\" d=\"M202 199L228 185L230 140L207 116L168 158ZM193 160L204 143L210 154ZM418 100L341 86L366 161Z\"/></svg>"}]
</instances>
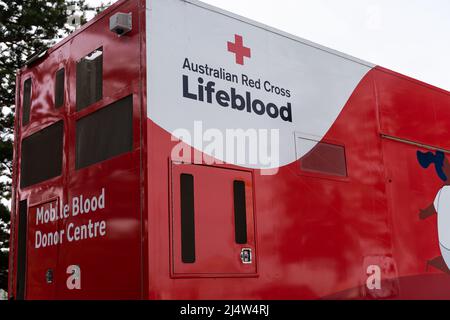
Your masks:
<instances>
[{"instance_id":1,"label":"red side panel surrounding the square hatch door, below the white curve","mask_svg":"<svg viewBox=\"0 0 450 320\"><path fill-rule=\"evenodd\" d=\"M300 161L273 176L253 171L258 277L180 281L170 277L167 261L151 259L150 298L312 299L349 288L355 289L343 297L360 298L364 257L392 254L376 113L369 74L325 137L345 146L348 179L303 174ZM164 257L170 246L168 158L175 142L150 120L147 138L158 150L148 157L149 255Z\"/></svg>"}]
</instances>

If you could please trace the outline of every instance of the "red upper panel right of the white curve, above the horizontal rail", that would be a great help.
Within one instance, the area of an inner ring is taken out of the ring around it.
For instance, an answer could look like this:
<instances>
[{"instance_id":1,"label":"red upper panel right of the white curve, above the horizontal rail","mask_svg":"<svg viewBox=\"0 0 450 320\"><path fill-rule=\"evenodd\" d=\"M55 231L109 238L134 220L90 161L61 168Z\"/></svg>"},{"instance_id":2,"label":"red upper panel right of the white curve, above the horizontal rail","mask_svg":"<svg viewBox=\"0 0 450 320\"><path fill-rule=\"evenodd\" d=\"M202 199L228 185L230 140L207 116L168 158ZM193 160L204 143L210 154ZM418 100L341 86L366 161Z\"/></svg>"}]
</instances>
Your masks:
<instances>
[{"instance_id":1,"label":"red upper panel right of the white curve, above the horizontal rail","mask_svg":"<svg viewBox=\"0 0 450 320\"><path fill-rule=\"evenodd\" d=\"M384 134L450 150L450 93L377 68L374 73Z\"/></svg>"}]
</instances>

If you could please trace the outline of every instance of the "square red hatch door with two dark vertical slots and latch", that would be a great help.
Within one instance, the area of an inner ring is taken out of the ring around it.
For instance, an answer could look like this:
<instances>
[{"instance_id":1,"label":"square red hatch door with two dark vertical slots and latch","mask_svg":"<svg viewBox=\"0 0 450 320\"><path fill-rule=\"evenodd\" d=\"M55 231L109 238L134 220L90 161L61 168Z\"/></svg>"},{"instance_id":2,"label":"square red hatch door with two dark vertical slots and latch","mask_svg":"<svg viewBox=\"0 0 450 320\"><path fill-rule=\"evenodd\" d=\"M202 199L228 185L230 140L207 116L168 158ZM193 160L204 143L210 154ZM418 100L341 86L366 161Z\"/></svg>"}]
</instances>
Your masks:
<instances>
[{"instance_id":1,"label":"square red hatch door with two dark vertical slots and latch","mask_svg":"<svg viewBox=\"0 0 450 320\"><path fill-rule=\"evenodd\" d=\"M194 179L195 262L181 259L180 175ZM235 242L233 181L245 182L247 243ZM172 264L174 276L242 276L256 273L253 183L250 172L217 167L172 164ZM243 248L253 261L244 264Z\"/></svg>"}]
</instances>

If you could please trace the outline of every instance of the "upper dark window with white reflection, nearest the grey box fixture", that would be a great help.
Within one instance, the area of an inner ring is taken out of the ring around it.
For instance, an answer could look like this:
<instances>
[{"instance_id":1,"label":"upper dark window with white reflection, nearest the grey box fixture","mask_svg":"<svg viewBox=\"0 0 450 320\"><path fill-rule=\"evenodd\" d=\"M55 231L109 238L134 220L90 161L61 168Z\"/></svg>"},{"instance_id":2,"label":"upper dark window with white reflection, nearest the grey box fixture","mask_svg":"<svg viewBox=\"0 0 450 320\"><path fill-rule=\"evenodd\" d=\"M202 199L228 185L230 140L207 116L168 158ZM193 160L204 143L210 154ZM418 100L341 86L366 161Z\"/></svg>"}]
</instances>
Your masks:
<instances>
[{"instance_id":1,"label":"upper dark window with white reflection, nearest the grey box fixture","mask_svg":"<svg viewBox=\"0 0 450 320\"><path fill-rule=\"evenodd\" d=\"M95 50L77 63L77 111L103 96L103 52Z\"/></svg>"}]
</instances>

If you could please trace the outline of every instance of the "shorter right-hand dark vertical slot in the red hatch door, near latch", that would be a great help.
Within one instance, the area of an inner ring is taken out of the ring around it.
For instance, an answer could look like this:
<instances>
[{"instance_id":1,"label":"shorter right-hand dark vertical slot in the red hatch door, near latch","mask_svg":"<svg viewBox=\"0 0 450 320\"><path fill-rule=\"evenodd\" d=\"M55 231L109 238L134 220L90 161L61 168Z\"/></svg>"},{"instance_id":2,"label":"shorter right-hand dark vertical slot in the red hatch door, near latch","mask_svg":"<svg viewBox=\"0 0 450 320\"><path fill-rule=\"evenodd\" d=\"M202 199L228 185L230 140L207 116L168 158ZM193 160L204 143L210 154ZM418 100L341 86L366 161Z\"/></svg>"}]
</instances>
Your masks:
<instances>
[{"instance_id":1,"label":"shorter right-hand dark vertical slot in the red hatch door, near latch","mask_svg":"<svg viewBox=\"0 0 450 320\"><path fill-rule=\"evenodd\" d=\"M234 236L238 244L247 243L247 212L245 202L245 183L235 180L234 193Z\"/></svg>"}]
</instances>

